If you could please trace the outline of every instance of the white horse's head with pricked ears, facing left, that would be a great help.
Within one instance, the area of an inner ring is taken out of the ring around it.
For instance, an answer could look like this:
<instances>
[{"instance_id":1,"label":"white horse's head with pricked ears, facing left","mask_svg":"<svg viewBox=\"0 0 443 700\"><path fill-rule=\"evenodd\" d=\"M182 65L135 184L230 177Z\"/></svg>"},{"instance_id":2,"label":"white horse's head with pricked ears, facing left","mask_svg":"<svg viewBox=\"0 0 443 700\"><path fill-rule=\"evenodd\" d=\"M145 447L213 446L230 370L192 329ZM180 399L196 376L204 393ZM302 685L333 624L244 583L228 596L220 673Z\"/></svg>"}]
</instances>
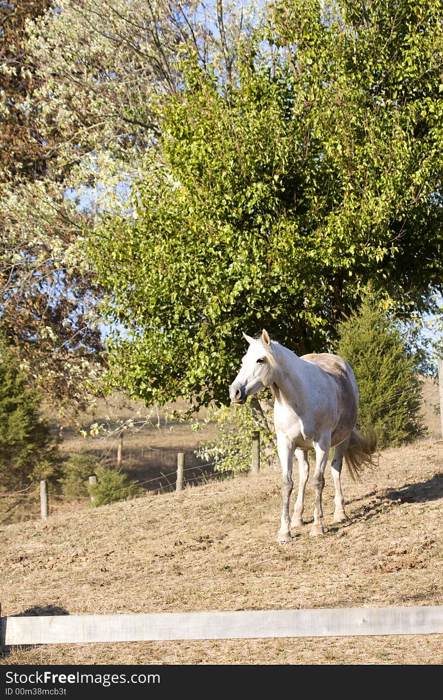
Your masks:
<instances>
[{"instance_id":1,"label":"white horse's head with pricked ears, facing left","mask_svg":"<svg viewBox=\"0 0 443 700\"><path fill-rule=\"evenodd\" d=\"M248 396L274 383L274 363L271 339L266 330L260 338L243 334L249 343L246 355L241 359L241 370L229 390L232 403L244 403Z\"/></svg>"}]
</instances>

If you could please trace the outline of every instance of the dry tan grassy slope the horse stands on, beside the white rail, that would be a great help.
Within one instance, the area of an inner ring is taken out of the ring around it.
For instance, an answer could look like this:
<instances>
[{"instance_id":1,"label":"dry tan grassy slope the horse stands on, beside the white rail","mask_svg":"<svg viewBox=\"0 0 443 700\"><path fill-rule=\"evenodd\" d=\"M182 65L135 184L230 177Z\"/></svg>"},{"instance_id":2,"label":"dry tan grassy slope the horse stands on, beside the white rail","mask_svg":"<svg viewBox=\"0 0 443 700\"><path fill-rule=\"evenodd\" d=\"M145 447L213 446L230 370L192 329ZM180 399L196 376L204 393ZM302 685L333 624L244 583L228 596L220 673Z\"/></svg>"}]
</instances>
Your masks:
<instances>
[{"instance_id":1,"label":"dry tan grassy slope the horse stands on, beside the white rail","mask_svg":"<svg viewBox=\"0 0 443 700\"><path fill-rule=\"evenodd\" d=\"M296 481L296 479L295 479ZM1 615L442 605L443 440L342 483L349 519L278 545L279 470L0 526ZM305 520L314 491L307 488ZM442 664L443 635L40 645L1 664Z\"/></svg>"}]
</instances>

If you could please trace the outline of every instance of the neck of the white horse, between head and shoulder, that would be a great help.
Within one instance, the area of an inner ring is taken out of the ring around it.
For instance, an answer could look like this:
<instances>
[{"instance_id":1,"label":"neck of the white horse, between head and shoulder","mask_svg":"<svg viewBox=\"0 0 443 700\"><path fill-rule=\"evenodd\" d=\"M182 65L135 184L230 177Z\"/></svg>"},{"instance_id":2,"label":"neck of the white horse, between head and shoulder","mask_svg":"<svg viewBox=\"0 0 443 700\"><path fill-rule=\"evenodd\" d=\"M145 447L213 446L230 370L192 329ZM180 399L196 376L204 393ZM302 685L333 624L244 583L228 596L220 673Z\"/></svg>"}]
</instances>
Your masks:
<instances>
[{"instance_id":1,"label":"neck of the white horse, between head and shoulder","mask_svg":"<svg viewBox=\"0 0 443 700\"><path fill-rule=\"evenodd\" d=\"M307 382L303 371L305 363L282 345L276 354L279 369L276 372L276 381L271 387L274 400L295 409L300 408L306 401Z\"/></svg>"}]
</instances>

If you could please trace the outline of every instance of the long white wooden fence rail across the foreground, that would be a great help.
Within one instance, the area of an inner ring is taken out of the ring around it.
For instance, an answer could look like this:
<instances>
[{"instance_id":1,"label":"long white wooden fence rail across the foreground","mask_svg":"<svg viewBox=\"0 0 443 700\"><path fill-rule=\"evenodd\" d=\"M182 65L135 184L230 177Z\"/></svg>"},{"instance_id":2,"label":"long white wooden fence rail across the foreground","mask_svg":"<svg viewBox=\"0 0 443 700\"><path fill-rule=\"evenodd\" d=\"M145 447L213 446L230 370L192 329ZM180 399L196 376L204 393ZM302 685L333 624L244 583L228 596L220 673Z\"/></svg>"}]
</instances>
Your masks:
<instances>
[{"instance_id":1,"label":"long white wooden fence rail across the foreground","mask_svg":"<svg viewBox=\"0 0 443 700\"><path fill-rule=\"evenodd\" d=\"M0 645L443 634L443 605L0 617Z\"/></svg>"}]
</instances>

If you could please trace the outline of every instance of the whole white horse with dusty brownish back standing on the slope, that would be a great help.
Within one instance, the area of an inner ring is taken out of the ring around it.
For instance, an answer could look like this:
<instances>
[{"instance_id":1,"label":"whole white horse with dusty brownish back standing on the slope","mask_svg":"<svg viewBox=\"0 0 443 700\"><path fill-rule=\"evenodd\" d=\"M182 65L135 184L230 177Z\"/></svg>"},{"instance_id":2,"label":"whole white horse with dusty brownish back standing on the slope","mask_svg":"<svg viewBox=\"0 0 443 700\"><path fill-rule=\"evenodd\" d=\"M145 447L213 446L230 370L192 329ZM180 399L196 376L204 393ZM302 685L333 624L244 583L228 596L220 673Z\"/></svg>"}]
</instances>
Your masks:
<instances>
[{"instance_id":1,"label":"whole white horse with dusty brownish back standing on the slope","mask_svg":"<svg viewBox=\"0 0 443 700\"><path fill-rule=\"evenodd\" d=\"M371 455L377 451L374 435L363 437L356 430L356 378L349 364L337 355L312 353L298 357L272 341L266 330L258 339L243 335L249 347L241 360L241 370L230 386L230 398L233 403L242 404L265 386L269 386L274 395L274 427L283 472L283 512L278 541L291 540L289 500L293 490L294 451L300 480L290 525L303 525L304 491L309 477L308 450L313 448L316 505L310 534L324 535L321 496L330 448L335 447L331 465L335 485L334 522L346 518L340 484L343 457L355 479L363 465L374 464Z\"/></svg>"}]
</instances>

